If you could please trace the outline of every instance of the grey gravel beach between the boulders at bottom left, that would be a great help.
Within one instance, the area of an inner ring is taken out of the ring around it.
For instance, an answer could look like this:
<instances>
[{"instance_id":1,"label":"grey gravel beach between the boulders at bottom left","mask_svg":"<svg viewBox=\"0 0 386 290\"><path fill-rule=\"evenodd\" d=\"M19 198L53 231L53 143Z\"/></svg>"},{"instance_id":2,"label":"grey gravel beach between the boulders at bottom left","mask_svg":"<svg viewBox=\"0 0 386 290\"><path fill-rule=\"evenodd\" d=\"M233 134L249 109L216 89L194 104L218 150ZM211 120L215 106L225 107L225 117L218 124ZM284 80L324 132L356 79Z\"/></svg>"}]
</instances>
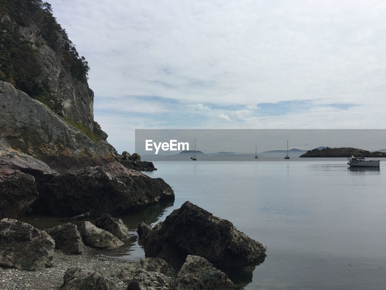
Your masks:
<instances>
[{"instance_id":1,"label":"grey gravel beach between the boulders at bottom left","mask_svg":"<svg viewBox=\"0 0 386 290\"><path fill-rule=\"evenodd\" d=\"M66 255L55 251L52 268L42 271L20 271L0 267L1 290L58 290L63 284L63 276L71 267L81 267L99 271L105 278L117 283L119 290L127 285L119 278L120 268L130 261L101 256Z\"/></svg>"}]
</instances>

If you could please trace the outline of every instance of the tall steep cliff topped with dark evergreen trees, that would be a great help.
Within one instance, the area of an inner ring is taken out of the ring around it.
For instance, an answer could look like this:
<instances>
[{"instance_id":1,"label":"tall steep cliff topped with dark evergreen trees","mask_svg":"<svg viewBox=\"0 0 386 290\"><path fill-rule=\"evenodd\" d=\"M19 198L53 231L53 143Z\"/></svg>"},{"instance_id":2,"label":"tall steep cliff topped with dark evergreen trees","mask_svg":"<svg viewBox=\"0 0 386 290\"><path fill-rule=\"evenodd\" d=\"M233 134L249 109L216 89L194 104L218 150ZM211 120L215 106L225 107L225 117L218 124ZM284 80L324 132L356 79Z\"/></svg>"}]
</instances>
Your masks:
<instances>
[{"instance_id":1,"label":"tall steep cliff topped with dark evergreen trees","mask_svg":"<svg viewBox=\"0 0 386 290\"><path fill-rule=\"evenodd\" d=\"M0 80L10 82L55 113L94 127L88 63L40 0L0 2Z\"/></svg>"}]
</instances>

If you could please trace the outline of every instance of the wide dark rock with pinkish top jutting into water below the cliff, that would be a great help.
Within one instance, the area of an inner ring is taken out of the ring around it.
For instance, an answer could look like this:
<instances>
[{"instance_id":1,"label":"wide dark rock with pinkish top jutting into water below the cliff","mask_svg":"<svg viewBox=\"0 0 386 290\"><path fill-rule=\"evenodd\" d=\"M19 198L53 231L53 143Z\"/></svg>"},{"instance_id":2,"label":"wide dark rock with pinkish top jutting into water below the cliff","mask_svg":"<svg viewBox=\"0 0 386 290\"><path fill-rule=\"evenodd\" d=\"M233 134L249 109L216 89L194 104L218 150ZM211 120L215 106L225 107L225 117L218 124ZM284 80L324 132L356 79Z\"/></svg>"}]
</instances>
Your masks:
<instances>
[{"instance_id":1,"label":"wide dark rock with pinkish top jutting into water below the cliff","mask_svg":"<svg viewBox=\"0 0 386 290\"><path fill-rule=\"evenodd\" d=\"M118 162L87 167L75 174L54 177L39 187L33 212L71 217L90 212L130 213L140 206L174 199L171 187L161 178L150 178Z\"/></svg>"}]
</instances>

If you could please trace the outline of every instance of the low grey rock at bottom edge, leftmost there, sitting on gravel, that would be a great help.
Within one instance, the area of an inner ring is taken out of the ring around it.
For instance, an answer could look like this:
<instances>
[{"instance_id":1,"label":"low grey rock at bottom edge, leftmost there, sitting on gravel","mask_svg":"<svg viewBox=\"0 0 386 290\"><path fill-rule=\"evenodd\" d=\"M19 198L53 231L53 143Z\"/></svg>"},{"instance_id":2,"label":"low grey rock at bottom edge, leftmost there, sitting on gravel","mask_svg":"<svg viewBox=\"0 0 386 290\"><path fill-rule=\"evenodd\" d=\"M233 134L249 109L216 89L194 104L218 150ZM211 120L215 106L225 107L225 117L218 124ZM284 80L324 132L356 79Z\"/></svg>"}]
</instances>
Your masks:
<instances>
[{"instance_id":1,"label":"low grey rock at bottom edge, leftmost there, sitting on gravel","mask_svg":"<svg viewBox=\"0 0 386 290\"><path fill-rule=\"evenodd\" d=\"M69 268L64 274L61 290L116 290L113 281L104 278L97 271L83 268Z\"/></svg>"}]
</instances>

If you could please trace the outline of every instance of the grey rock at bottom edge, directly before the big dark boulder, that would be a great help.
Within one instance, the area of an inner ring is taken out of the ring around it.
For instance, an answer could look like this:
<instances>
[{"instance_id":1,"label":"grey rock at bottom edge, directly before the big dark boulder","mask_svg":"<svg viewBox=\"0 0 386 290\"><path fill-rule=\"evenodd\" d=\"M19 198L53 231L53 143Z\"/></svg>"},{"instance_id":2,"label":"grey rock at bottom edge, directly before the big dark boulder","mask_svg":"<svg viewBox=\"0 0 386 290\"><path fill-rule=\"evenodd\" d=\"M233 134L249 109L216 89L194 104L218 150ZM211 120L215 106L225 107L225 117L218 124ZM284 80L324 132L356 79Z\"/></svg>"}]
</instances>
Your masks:
<instances>
[{"instance_id":1,"label":"grey rock at bottom edge, directly before the big dark boulder","mask_svg":"<svg viewBox=\"0 0 386 290\"><path fill-rule=\"evenodd\" d=\"M178 272L179 289L234 289L235 285L225 273L213 267L207 259L188 255Z\"/></svg>"}]
</instances>

